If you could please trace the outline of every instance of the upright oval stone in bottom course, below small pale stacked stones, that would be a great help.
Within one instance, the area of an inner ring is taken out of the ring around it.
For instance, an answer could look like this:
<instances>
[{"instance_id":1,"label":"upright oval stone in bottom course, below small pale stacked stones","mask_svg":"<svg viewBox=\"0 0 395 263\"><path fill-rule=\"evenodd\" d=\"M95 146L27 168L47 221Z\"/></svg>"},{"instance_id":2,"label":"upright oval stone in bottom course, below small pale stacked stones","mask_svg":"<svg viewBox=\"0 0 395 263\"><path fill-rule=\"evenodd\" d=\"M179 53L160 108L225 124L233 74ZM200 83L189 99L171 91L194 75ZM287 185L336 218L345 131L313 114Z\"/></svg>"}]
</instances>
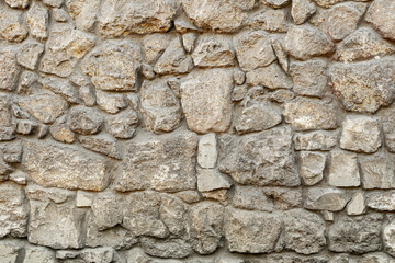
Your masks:
<instances>
[{"instance_id":1,"label":"upright oval stone in bottom course, below small pale stacked stones","mask_svg":"<svg viewBox=\"0 0 395 263\"><path fill-rule=\"evenodd\" d=\"M213 253L224 236L224 207L214 202L201 202L189 211L188 227L192 248L200 254Z\"/></svg>"}]
</instances>

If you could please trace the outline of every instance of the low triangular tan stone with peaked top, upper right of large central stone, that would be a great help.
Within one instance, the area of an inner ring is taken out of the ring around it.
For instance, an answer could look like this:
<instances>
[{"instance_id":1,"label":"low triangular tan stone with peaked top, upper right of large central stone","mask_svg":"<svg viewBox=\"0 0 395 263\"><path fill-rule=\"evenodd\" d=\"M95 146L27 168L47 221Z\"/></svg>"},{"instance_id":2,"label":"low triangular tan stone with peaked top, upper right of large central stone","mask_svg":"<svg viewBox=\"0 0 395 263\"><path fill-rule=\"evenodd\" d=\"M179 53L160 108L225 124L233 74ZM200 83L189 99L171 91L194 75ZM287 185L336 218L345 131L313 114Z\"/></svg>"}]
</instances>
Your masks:
<instances>
[{"instance_id":1,"label":"low triangular tan stone with peaked top, upper right of large central stone","mask_svg":"<svg viewBox=\"0 0 395 263\"><path fill-rule=\"evenodd\" d=\"M276 62L249 71L246 78L247 84L263 85L268 89L291 89L293 87L292 79Z\"/></svg>"}]
</instances>

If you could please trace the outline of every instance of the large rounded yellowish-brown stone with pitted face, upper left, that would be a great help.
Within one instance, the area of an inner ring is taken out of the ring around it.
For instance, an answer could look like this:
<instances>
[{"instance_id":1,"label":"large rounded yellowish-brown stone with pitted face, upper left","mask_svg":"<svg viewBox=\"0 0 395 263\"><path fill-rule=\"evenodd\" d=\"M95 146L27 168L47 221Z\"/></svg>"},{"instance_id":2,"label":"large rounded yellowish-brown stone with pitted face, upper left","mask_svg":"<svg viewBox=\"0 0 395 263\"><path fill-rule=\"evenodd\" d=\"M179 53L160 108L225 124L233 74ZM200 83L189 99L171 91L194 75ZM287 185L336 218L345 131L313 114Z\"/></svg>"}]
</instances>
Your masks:
<instances>
[{"instance_id":1,"label":"large rounded yellowish-brown stone with pitted face, upper left","mask_svg":"<svg viewBox=\"0 0 395 263\"><path fill-rule=\"evenodd\" d=\"M81 65L93 85L103 91L136 91L140 49L128 41L106 41Z\"/></svg>"}]
</instances>

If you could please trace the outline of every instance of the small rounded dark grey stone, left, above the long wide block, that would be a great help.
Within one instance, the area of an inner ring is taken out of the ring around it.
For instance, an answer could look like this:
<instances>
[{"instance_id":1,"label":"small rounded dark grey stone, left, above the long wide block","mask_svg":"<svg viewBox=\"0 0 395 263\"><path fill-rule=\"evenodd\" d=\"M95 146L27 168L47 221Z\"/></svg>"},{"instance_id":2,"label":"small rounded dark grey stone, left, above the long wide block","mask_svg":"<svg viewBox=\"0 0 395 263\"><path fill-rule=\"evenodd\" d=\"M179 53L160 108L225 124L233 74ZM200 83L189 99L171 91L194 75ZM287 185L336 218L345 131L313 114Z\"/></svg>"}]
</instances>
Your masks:
<instances>
[{"instance_id":1,"label":"small rounded dark grey stone, left, above the long wide block","mask_svg":"<svg viewBox=\"0 0 395 263\"><path fill-rule=\"evenodd\" d=\"M81 135L97 134L102 124L103 117L99 112L84 106L72 107L67 118L68 127Z\"/></svg>"}]
</instances>

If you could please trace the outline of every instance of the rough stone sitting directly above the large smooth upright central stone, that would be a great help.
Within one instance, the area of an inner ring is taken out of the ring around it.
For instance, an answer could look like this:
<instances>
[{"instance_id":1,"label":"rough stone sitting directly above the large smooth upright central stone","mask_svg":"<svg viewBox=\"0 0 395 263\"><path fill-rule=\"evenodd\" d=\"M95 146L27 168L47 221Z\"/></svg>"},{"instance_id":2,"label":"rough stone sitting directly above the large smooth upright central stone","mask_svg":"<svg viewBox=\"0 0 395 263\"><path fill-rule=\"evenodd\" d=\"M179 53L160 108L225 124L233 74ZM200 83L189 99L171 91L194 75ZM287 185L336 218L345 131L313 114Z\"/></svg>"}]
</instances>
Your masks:
<instances>
[{"instance_id":1,"label":"rough stone sitting directly above the large smooth upright central stone","mask_svg":"<svg viewBox=\"0 0 395 263\"><path fill-rule=\"evenodd\" d=\"M229 41L222 35L204 34L196 42L196 48L192 53L195 66L201 68L234 66L235 52Z\"/></svg>"}]
</instances>

